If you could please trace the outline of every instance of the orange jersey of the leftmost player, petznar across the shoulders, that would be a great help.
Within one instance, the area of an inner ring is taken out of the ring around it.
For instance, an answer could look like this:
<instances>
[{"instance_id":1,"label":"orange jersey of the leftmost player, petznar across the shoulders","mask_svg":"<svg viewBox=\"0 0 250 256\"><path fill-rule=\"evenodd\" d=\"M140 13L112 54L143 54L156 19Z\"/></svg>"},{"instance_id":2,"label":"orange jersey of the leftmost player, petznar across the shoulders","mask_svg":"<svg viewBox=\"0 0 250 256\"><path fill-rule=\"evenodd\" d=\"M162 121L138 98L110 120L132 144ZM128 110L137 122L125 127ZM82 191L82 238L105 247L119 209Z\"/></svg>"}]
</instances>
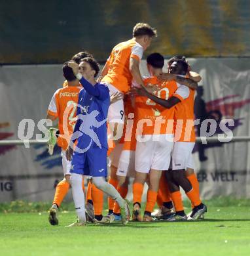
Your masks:
<instances>
[{"instance_id":1,"label":"orange jersey of the leftmost player, petznar across the shoulders","mask_svg":"<svg viewBox=\"0 0 250 256\"><path fill-rule=\"evenodd\" d=\"M50 105L48 106L48 114L58 117L58 128L60 137L58 137L58 146L63 150L67 149L71 135L73 134L77 114L77 102L79 91L82 87L66 86L60 88L54 93ZM65 115L65 116L63 116ZM65 139L63 136L68 138Z\"/></svg>"}]
</instances>

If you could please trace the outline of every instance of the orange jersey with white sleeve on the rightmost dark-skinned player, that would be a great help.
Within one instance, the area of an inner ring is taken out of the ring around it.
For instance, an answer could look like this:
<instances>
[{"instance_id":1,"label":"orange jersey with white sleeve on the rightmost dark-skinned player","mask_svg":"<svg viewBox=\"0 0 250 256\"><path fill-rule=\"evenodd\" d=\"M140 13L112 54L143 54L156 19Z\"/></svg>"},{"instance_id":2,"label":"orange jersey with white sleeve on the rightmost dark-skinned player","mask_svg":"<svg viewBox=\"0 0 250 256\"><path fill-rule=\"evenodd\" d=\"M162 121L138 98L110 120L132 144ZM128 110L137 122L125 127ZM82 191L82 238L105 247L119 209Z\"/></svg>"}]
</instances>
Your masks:
<instances>
[{"instance_id":1,"label":"orange jersey with white sleeve on the rightmost dark-skinned player","mask_svg":"<svg viewBox=\"0 0 250 256\"><path fill-rule=\"evenodd\" d=\"M183 89L183 96L181 92ZM179 91L178 91L179 90ZM195 142L194 133L194 90L181 85L173 96L181 102L175 105L175 141ZM187 93L184 93L186 91Z\"/></svg>"}]
</instances>

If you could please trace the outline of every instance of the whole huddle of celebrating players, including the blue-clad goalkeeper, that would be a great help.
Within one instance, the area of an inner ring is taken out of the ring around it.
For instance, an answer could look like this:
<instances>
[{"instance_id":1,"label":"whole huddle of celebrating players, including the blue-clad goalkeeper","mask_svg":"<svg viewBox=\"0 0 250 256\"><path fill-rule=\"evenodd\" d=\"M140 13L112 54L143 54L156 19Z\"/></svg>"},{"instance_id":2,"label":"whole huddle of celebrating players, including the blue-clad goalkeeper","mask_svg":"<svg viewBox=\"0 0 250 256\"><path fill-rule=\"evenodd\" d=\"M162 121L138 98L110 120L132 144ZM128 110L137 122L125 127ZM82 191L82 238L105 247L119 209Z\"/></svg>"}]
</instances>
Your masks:
<instances>
[{"instance_id":1,"label":"whole huddle of celebrating players, including the blue-clad goalkeeper","mask_svg":"<svg viewBox=\"0 0 250 256\"><path fill-rule=\"evenodd\" d=\"M150 75L143 77L139 63L156 36L149 24L136 24L132 39L113 48L98 78L99 64L86 51L63 64L65 82L47 113L48 119L58 119L58 129L49 129L48 150L52 154L56 142L62 148L64 174L50 208L50 224L58 224L58 208L70 186L77 221L69 226L204 218L207 207L200 200L192 158L194 93L201 77L191 71L185 56L170 58L164 73L160 53L147 56ZM131 181L132 216L125 200ZM188 215L180 188L192 203ZM107 216L102 215L103 193L108 196Z\"/></svg>"}]
</instances>

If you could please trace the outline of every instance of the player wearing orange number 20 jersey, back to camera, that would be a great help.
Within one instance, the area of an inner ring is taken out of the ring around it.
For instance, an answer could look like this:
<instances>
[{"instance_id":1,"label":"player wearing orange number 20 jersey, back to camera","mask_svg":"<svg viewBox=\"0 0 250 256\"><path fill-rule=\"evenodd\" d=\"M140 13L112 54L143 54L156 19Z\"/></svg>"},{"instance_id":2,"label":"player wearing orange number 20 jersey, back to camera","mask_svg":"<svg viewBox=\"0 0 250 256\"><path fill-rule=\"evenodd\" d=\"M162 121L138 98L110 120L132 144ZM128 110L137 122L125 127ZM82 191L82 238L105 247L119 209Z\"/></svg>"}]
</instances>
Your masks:
<instances>
[{"instance_id":1,"label":"player wearing orange number 20 jersey, back to camera","mask_svg":"<svg viewBox=\"0 0 250 256\"><path fill-rule=\"evenodd\" d=\"M152 76L144 79L147 87L158 87L153 92L159 97L168 99L177 90L177 83L164 82L156 77L162 73L164 56L159 53L152 53L147 57L147 68ZM173 148L173 116L174 108L169 110L147 96L136 96L135 98L135 119L137 120L137 145L135 150L135 180L133 184L134 194L134 215L135 221L142 221L140 215L141 196L147 177L149 177L149 189L147 191L147 204L143 221L152 221L151 213L156 203L158 186L163 171L170 165L171 150ZM139 137L141 135L141 138ZM164 188L164 201L168 209L173 208L168 192L168 185Z\"/></svg>"}]
</instances>

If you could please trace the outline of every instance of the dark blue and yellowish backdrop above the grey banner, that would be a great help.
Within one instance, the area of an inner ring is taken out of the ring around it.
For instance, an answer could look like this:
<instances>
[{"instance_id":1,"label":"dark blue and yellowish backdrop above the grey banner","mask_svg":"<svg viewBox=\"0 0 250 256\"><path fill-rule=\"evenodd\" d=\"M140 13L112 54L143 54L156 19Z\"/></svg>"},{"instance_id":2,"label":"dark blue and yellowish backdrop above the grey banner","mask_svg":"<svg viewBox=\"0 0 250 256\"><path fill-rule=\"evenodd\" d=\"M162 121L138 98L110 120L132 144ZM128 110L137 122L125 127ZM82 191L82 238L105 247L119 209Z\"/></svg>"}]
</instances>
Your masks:
<instances>
[{"instance_id":1,"label":"dark blue and yellowish backdrop above the grey banner","mask_svg":"<svg viewBox=\"0 0 250 256\"><path fill-rule=\"evenodd\" d=\"M0 0L0 64L62 63L82 49L105 61L137 22L164 56L250 56L250 1Z\"/></svg>"}]
</instances>

